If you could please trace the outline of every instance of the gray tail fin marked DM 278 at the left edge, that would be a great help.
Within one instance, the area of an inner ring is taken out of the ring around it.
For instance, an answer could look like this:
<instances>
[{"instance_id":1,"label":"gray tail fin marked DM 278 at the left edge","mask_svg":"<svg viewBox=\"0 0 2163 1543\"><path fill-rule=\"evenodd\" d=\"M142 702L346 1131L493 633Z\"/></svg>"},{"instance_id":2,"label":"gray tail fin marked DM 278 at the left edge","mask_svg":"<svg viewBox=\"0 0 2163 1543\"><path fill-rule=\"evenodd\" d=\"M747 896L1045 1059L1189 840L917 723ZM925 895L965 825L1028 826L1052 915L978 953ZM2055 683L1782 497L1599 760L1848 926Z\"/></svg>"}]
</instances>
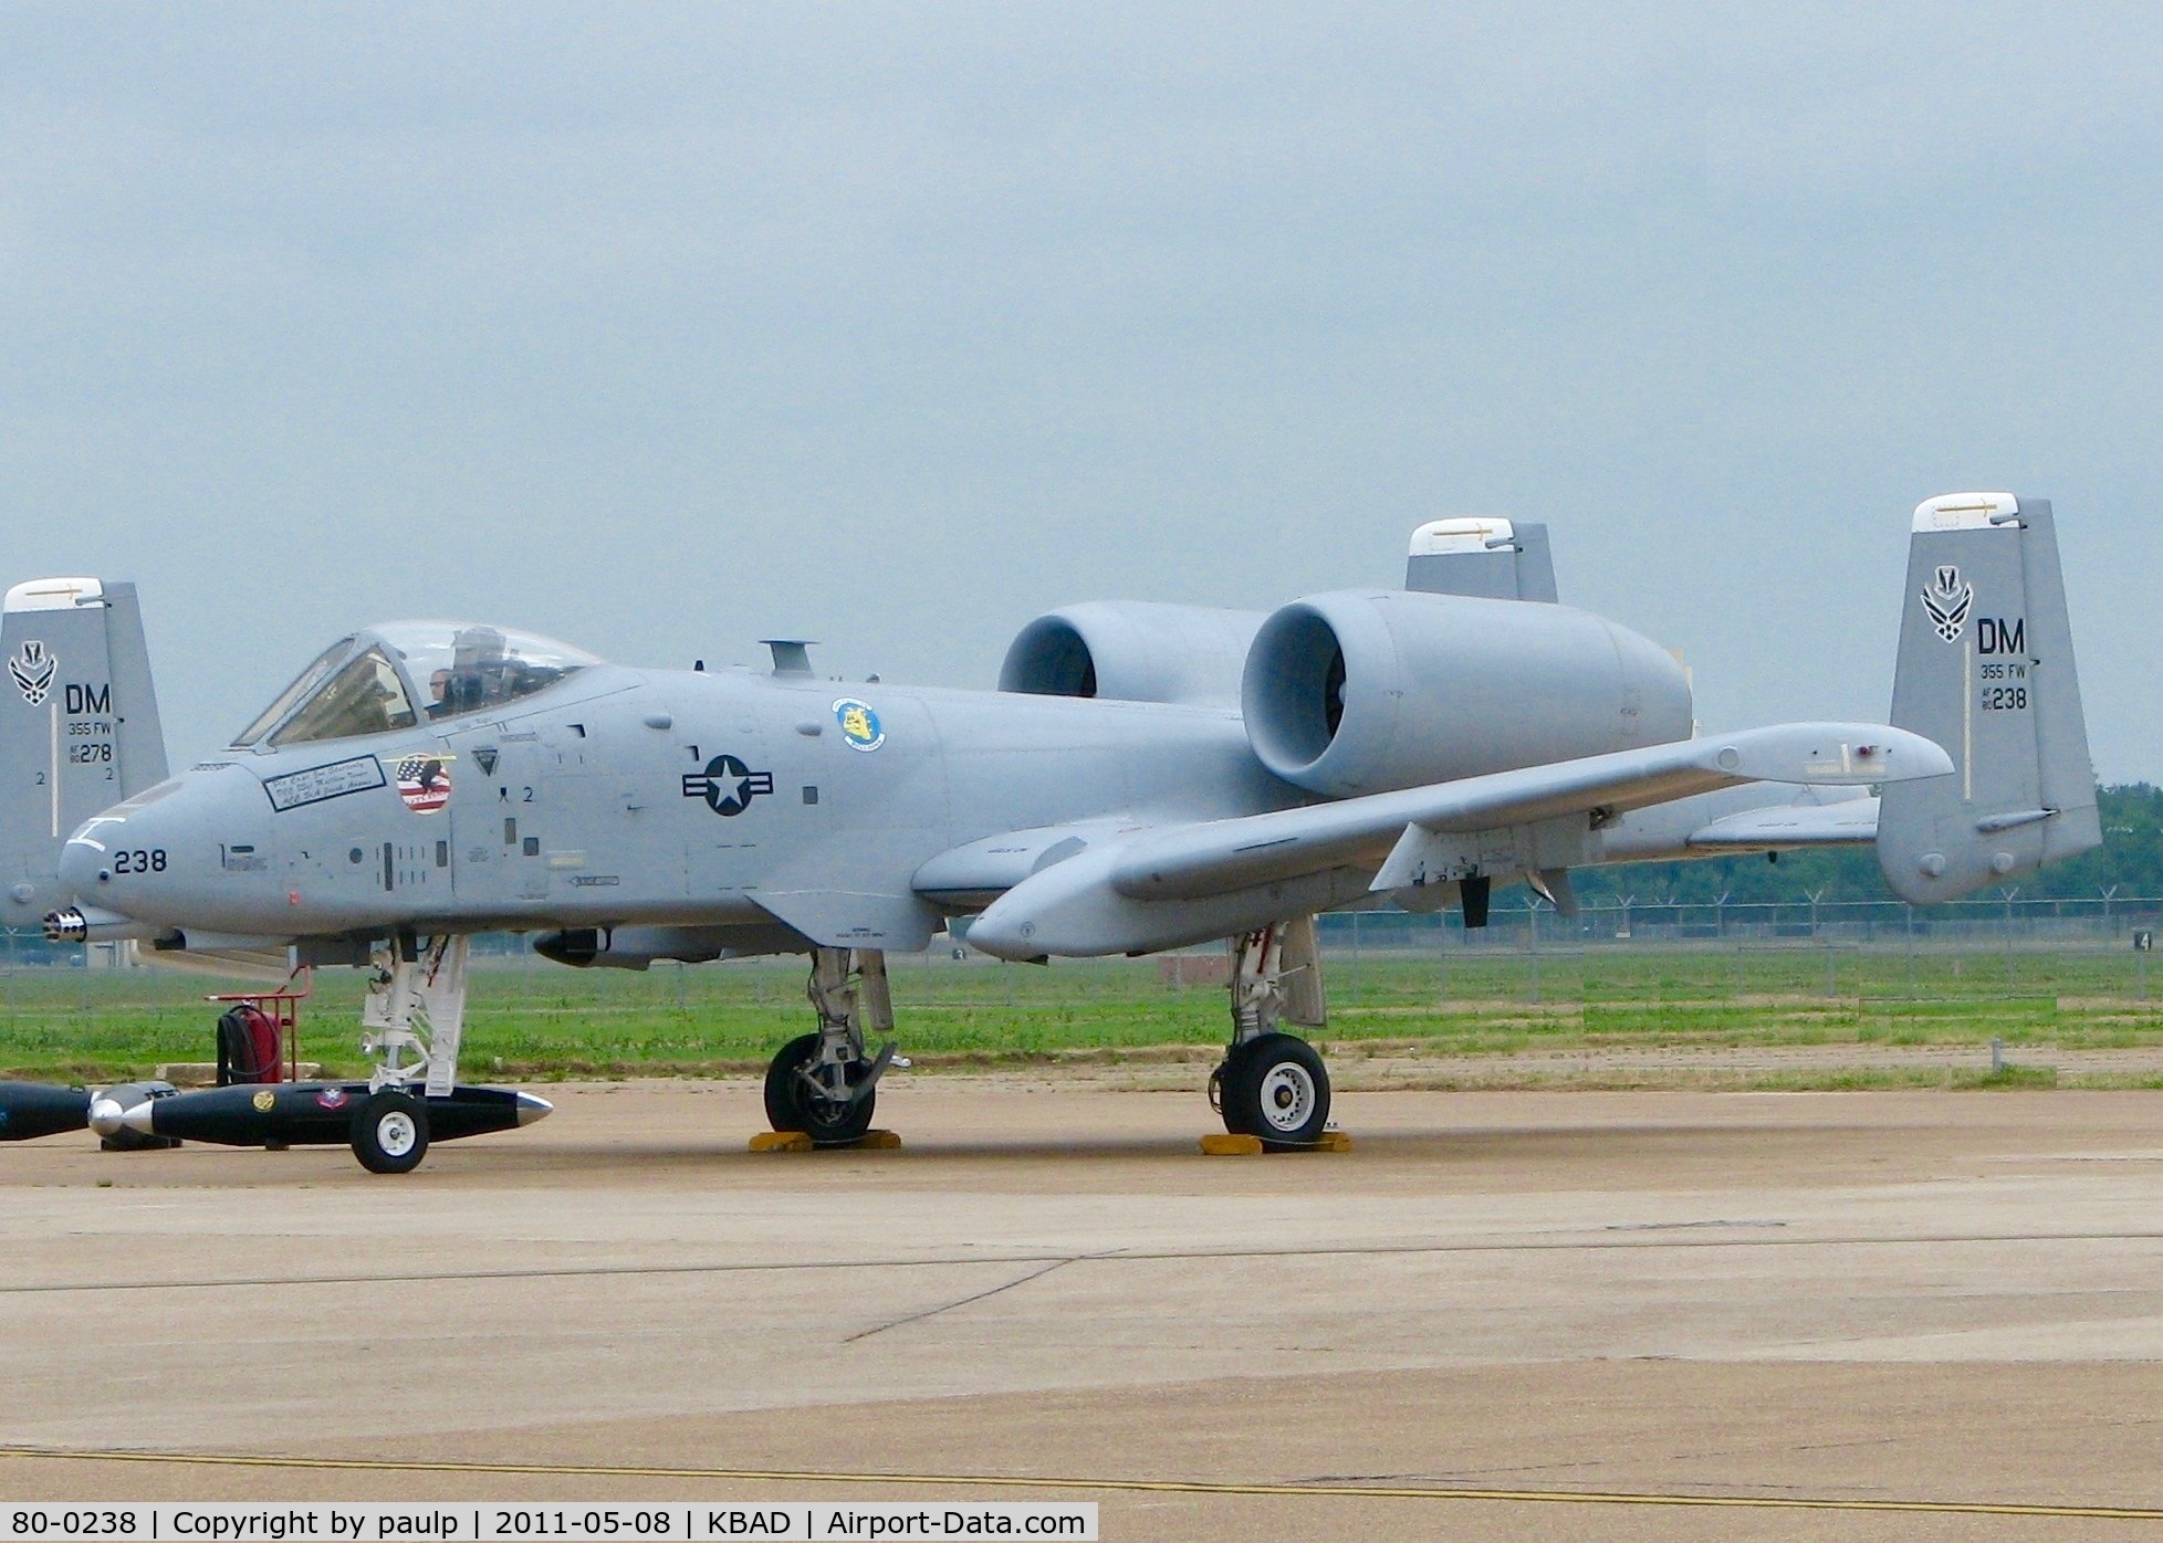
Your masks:
<instances>
[{"instance_id":1,"label":"gray tail fin marked DM 278 at the left edge","mask_svg":"<svg viewBox=\"0 0 2163 1543\"><path fill-rule=\"evenodd\" d=\"M35 925L76 826L164 780L132 583L32 579L0 601L0 921Z\"/></svg>"}]
</instances>

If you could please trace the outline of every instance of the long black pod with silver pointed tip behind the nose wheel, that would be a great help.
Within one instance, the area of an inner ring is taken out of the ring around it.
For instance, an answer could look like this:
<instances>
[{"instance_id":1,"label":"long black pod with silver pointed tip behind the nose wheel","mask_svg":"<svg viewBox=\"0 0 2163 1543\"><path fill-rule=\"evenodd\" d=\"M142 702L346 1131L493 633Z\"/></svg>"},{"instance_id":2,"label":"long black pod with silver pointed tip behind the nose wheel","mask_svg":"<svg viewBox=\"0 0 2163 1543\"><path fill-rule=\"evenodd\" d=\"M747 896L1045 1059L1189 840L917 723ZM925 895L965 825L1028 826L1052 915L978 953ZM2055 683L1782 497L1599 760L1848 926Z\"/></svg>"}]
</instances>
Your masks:
<instances>
[{"instance_id":1,"label":"long black pod with silver pointed tip behind the nose wheel","mask_svg":"<svg viewBox=\"0 0 2163 1543\"><path fill-rule=\"evenodd\" d=\"M368 1083L236 1083L173 1098L151 1098L128 1111L128 1126L180 1141L229 1148L333 1148L353 1139L353 1115ZM448 1098L420 1098L433 1141L517 1130L549 1113L547 1100L502 1087L454 1087Z\"/></svg>"}]
</instances>

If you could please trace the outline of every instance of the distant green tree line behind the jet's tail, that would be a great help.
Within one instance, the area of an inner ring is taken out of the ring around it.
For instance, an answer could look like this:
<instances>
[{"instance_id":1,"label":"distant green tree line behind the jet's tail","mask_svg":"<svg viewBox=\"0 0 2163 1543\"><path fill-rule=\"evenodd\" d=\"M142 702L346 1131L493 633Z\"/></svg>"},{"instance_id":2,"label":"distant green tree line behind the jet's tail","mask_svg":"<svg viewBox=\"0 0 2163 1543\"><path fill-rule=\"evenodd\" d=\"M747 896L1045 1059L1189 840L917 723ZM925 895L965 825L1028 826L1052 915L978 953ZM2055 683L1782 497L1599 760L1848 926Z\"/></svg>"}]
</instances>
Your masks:
<instances>
[{"instance_id":1,"label":"distant green tree line behind the jet's tail","mask_svg":"<svg viewBox=\"0 0 2163 1543\"><path fill-rule=\"evenodd\" d=\"M2100 899L2113 884L2124 899L2163 897L2163 789L2148 782L2098 787L2096 804L2102 813L2102 845L2072 862L2020 875L2020 899ZM1644 901L1672 897L1687 905L1709 905L1722 895L1733 903L1802 903L1813 893L1821 893L1826 901L1893 899L1877 871L1877 854L1869 847L1787 851L1778 862L1763 856L1631 862L1579 871L1577 893L1594 903L1635 895Z\"/></svg>"}]
</instances>

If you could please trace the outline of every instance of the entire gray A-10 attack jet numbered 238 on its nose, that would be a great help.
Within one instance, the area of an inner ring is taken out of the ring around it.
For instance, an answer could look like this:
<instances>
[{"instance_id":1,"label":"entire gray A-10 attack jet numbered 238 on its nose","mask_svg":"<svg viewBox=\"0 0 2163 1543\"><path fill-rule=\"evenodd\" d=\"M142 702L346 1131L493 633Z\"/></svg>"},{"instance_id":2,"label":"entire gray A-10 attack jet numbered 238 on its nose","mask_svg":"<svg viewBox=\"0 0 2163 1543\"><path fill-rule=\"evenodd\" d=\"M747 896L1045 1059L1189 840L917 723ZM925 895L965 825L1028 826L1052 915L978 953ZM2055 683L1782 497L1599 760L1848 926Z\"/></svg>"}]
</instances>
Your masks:
<instances>
[{"instance_id":1,"label":"entire gray A-10 attack jet numbered 238 on its nose","mask_svg":"<svg viewBox=\"0 0 2163 1543\"><path fill-rule=\"evenodd\" d=\"M1330 1113L1285 1033L1324 1022L1317 912L1482 925L1497 880L1568 908L1573 867L1869 841L1912 901L2100 841L2048 504L1916 510L1888 726L1694 737L1683 668L1560 605L1544 529L1497 521L1421 527L1402 590L1051 612L997 692L837 687L800 644L772 672L636 670L374 627L229 750L89 817L45 927L370 968L350 1139L376 1171L426 1152L476 931L580 966L807 953L815 1027L766 1111L826 1145L867 1130L893 1057L889 951L963 918L1004 960L1229 938L1211 1091L1283 1150Z\"/></svg>"}]
</instances>

